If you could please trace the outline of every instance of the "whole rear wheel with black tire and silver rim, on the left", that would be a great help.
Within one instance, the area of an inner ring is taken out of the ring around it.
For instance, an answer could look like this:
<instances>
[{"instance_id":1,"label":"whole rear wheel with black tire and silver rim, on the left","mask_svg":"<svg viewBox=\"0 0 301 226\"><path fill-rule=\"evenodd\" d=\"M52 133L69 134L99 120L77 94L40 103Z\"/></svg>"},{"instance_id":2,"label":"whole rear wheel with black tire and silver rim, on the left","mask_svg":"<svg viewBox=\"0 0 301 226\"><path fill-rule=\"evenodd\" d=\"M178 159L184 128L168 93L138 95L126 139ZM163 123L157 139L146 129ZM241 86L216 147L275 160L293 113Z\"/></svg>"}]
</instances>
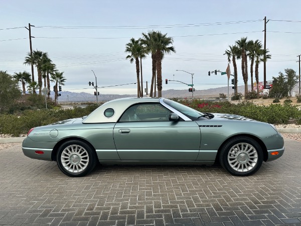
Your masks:
<instances>
[{"instance_id":1,"label":"whole rear wheel with black tire and silver rim, on the left","mask_svg":"<svg viewBox=\"0 0 301 226\"><path fill-rule=\"evenodd\" d=\"M86 143L71 140L63 143L57 153L59 169L70 177L82 177L90 173L96 166L97 157Z\"/></svg>"}]
</instances>

